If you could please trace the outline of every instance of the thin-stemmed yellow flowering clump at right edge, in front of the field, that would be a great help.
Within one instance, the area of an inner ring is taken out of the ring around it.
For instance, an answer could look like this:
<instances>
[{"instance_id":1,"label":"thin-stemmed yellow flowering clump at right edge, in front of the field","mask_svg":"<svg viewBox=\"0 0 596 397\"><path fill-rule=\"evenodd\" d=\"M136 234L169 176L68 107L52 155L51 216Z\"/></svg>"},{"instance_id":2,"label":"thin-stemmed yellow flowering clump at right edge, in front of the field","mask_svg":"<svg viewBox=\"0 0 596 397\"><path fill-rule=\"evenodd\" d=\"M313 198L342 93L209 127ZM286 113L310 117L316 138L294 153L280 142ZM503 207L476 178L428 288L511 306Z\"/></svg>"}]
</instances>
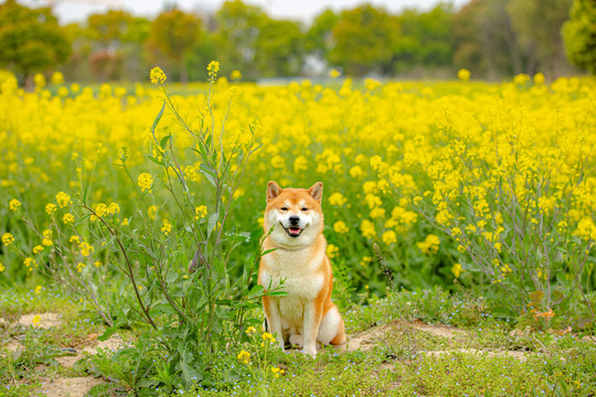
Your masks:
<instances>
[{"instance_id":1,"label":"thin-stemmed yellow flowering clump at right edge, in front of the field","mask_svg":"<svg viewBox=\"0 0 596 397\"><path fill-rule=\"evenodd\" d=\"M586 135L538 151L519 131L481 138L448 127L441 132L436 155L377 167L400 198L455 242L456 277L481 275L503 315L531 313L549 322L555 307L579 305L573 312L585 316L577 324L594 324L596 227L586 211ZM440 242L434 239L436 250Z\"/></svg>"}]
</instances>

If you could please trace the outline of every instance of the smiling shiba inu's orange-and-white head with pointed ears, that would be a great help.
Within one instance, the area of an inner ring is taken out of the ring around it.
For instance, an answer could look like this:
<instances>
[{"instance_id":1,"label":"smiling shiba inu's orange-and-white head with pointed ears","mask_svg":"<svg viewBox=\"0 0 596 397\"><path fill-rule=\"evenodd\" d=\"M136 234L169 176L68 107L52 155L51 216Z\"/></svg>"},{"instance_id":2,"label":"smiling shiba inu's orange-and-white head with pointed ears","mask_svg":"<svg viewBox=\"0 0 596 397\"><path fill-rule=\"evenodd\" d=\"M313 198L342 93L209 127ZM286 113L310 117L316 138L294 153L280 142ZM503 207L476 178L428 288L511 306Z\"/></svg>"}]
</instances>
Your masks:
<instances>
[{"instance_id":1,"label":"smiling shiba inu's orange-and-white head with pointed ears","mask_svg":"<svg viewBox=\"0 0 596 397\"><path fill-rule=\"evenodd\" d=\"M267 208L263 227L274 227L270 238L281 246L299 248L310 245L322 232L322 183L310 189L281 189L275 182L267 184Z\"/></svg>"}]
</instances>

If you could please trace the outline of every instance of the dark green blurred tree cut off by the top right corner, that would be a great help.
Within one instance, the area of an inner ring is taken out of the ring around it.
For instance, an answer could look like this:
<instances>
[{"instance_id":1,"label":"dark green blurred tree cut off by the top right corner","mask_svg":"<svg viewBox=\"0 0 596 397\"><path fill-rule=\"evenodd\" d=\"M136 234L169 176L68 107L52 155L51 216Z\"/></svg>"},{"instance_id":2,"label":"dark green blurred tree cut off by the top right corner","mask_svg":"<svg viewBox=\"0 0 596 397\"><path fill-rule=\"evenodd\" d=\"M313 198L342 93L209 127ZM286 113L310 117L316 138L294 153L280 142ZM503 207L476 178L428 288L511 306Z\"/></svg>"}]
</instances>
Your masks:
<instances>
[{"instance_id":1,"label":"dark green blurred tree cut off by the top right corner","mask_svg":"<svg viewBox=\"0 0 596 397\"><path fill-rule=\"evenodd\" d=\"M575 0L562 33L568 60L596 75L596 1Z\"/></svg>"}]
</instances>

